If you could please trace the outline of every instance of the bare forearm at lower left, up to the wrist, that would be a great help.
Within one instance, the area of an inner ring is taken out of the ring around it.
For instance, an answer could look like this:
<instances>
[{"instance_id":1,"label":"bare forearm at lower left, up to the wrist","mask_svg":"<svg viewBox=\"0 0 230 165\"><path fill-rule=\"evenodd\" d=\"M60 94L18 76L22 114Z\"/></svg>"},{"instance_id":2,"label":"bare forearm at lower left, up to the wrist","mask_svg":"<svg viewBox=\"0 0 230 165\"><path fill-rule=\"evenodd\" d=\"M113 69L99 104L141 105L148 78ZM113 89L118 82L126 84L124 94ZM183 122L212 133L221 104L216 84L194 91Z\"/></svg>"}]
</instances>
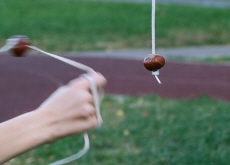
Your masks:
<instances>
[{"instance_id":1,"label":"bare forearm at lower left, up to the wrist","mask_svg":"<svg viewBox=\"0 0 230 165\"><path fill-rule=\"evenodd\" d=\"M48 142L49 126L42 119L33 111L0 123L0 164Z\"/></svg>"}]
</instances>

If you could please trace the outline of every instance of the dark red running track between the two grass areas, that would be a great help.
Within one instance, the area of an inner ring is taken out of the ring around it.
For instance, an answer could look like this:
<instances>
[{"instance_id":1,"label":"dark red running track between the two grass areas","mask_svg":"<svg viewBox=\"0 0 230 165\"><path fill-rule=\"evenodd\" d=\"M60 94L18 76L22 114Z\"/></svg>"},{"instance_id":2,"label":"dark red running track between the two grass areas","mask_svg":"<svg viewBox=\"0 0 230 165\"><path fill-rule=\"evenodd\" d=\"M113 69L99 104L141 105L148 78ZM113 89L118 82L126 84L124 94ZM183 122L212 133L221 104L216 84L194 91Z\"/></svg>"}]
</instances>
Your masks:
<instances>
[{"instance_id":1,"label":"dark red running track between the two grass areas","mask_svg":"<svg viewBox=\"0 0 230 165\"><path fill-rule=\"evenodd\" d=\"M101 72L106 93L131 96L157 94L165 98L208 95L230 101L230 66L167 62L160 71L162 85L140 60L71 57ZM81 73L45 56L0 56L0 122L37 108L57 87Z\"/></svg>"}]
</instances>

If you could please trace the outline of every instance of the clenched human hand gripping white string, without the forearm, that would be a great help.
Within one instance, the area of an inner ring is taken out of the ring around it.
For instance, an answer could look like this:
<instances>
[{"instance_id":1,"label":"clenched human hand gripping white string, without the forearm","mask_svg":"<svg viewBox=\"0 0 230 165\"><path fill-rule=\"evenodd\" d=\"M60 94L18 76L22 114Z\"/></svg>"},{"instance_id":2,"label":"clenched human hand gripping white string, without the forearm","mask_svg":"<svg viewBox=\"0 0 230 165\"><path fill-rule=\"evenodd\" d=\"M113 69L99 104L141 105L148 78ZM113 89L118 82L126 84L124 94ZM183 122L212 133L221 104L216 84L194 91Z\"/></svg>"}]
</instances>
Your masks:
<instances>
[{"instance_id":1,"label":"clenched human hand gripping white string, without the forearm","mask_svg":"<svg viewBox=\"0 0 230 165\"><path fill-rule=\"evenodd\" d=\"M101 74L90 73L90 76L98 89L105 86L106 79ZM36 113L48 125L48 142L87 132L98 126L90 84L84 77L58 88L41 104Z\"/></svg>"}]
</instances>

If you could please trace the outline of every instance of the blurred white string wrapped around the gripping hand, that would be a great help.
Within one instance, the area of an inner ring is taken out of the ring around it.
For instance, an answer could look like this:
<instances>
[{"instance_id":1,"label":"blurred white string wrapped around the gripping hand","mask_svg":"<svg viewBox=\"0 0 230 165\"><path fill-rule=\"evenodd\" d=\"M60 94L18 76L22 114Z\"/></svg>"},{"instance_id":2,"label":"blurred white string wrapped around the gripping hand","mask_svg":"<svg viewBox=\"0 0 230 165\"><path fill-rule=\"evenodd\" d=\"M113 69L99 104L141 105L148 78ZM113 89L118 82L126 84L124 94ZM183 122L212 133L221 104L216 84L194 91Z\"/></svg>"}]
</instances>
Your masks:
<instances>
[{"instance_id":1,"label":"blurred white string wrapped around the gripping hand","mask_svg":"<svg viewBox=\"0 0 230 165\"><path fill-rule=\"evenodd\" d=\"M6 51L9 51L11 48L13 48L16 44L18 44L18 41L19 39L8 39L7 42L6 42L6 45L3 46L1 49L0 49L0 52L6 52ZM73 60L70 60L70 59L67 59L67 58L64 58L64 57L60 57L60 56L57 56L55 54L51 54L51 53L48 53L48 52L45 52L35 46L29 46L27 45L28 48L31 48L33 50L36 50L38 52L41 52L45 55L48 55L50 57L53 57L53 58L56 58L62 62L65 62L69 65L72 65L78 69L81 69L85 72L95 72L92 68L84 65L84 64L81 64L79 62L76 62L76 61L73 61ZM94 100L94 106L95 106L95 109L96 109L96 115L97 115L97 119L98 119L98 126L101 126L102 124L102 118L101 118L101 114L100 114L100 100L99 100L99 94L98 94L98 90L97 90L97 86L96 86L96 83L94 81L94 79L89 76L88 74L83 74L82 75L83 77L85 77L89 83L90 83L90 88L91 88L91 91L92 91L92 95L93 95L93 100ZM80 157L82 157L88 150L89 150L89 147L90 147L90 142L89 142L89 136L87 133L84 133L83 134L84 136L84 147L82 150L80 150L77 154L75 155L72 155L70 157L67 157L65 159L62 159L62 160L59 160L57 162L54 162L54 163L51 163L49 165L62 165L62 164L66 164L66 163L69 163L69 162L72 162L76 159L79 159Z\"/></svg>"}]
</instances>

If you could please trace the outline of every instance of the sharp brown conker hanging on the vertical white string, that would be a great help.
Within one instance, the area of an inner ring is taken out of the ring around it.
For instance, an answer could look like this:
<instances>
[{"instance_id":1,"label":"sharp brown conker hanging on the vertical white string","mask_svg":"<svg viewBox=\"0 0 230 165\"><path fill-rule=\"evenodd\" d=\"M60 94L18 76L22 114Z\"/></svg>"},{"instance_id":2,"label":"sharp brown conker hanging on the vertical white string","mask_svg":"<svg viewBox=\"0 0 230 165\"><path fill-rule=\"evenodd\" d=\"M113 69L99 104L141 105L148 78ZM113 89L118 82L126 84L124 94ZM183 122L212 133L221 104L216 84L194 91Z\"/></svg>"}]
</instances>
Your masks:
<instances>
[{"instance_id":1,"label":"sharp brown conker hanging on the vertical white string","mask_svg":"<svg viewBox=\"0 0 230 165\"><path fill-rule=\"evenodd\" d=\"M165 65L165 59L158 54L149 54L145 57L143 64L147 70L157 71Z\"/></svg>"}]
</instances>

